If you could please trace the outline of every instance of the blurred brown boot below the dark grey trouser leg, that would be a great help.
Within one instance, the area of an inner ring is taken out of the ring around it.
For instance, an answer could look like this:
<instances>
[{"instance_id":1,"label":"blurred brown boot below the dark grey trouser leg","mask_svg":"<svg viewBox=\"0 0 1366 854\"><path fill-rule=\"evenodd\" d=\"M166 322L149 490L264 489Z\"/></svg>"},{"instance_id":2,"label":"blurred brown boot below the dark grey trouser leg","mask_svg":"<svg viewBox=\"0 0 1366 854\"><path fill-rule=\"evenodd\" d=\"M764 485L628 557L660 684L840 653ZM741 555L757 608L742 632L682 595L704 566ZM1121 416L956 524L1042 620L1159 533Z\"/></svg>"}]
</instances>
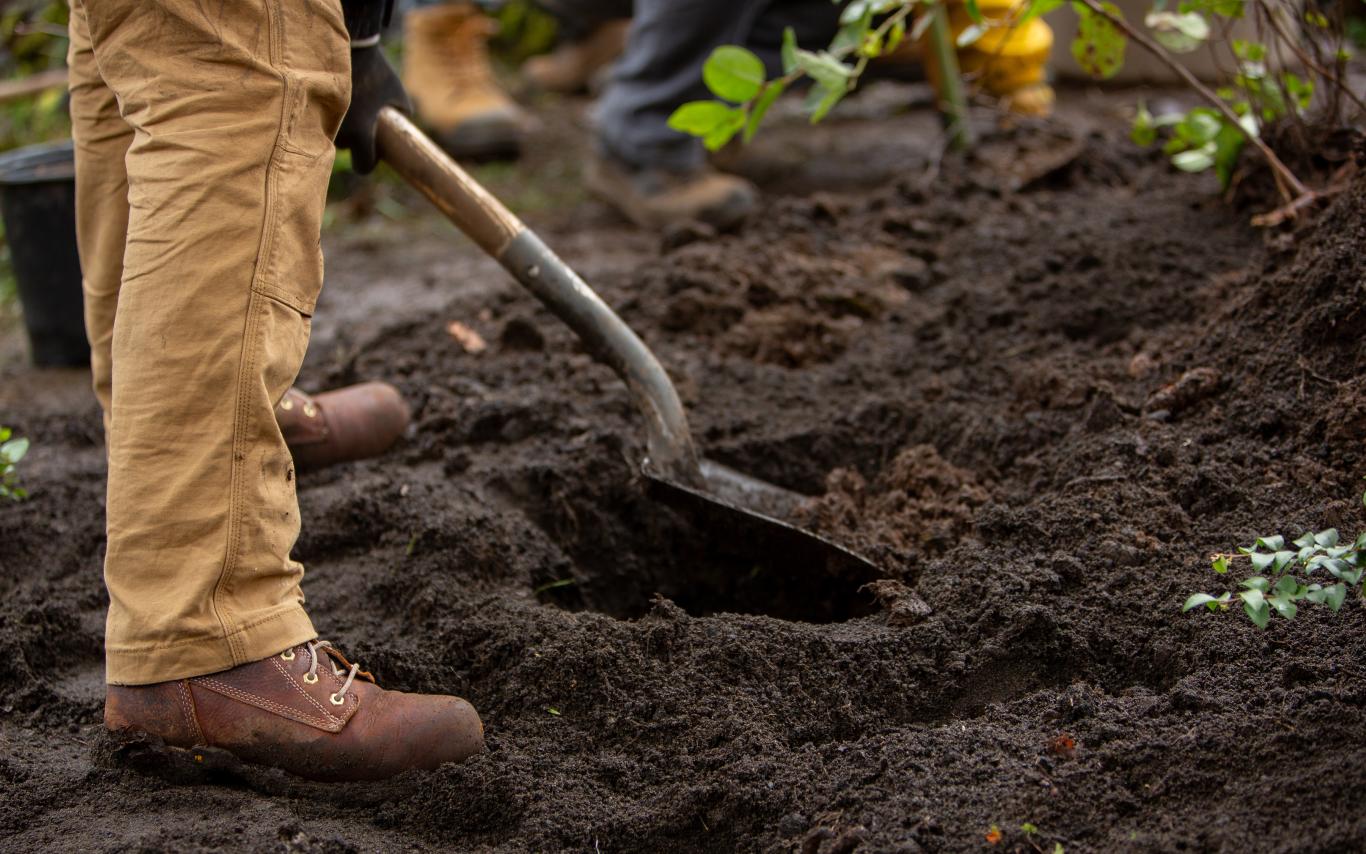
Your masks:
<instances>
[{"instance_id":1,"label":"blurred brown boot below the dark grey trouser leg","mask_svg":"<svg viewBox=\"0 0 1366 854\"><path fill-rule=\"evenodd\" d=\"M686 174L632 169L601 154L589 164L587 186L637 225L654 230L687 220L725 230L758 204L750 182L710 167Z\"/></svg>"}]
</instances>

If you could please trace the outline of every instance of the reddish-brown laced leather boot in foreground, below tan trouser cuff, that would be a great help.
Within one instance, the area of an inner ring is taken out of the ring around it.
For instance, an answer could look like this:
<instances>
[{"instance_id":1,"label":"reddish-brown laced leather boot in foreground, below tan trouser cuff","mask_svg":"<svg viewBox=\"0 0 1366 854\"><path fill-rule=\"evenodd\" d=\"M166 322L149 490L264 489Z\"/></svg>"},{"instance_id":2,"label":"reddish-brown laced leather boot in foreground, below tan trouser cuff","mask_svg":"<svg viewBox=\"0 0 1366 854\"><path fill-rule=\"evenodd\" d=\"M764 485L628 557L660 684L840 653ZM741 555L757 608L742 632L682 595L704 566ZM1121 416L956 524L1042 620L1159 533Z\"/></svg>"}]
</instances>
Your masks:
<instances>
[{"instance_id":1,"label":"reddish-brown laced leather boot in foreground, below tan trouser cuff","mask_svg":"<svg viewBox=\"0 0 1366 854\"><path fill-rule=\"evenodd\" d=\"M387 691L326 641L221 674L111 685L104 726L322 782L430 771L484 750L484 724L469 702Z\"/></svg>"}]
</instances>

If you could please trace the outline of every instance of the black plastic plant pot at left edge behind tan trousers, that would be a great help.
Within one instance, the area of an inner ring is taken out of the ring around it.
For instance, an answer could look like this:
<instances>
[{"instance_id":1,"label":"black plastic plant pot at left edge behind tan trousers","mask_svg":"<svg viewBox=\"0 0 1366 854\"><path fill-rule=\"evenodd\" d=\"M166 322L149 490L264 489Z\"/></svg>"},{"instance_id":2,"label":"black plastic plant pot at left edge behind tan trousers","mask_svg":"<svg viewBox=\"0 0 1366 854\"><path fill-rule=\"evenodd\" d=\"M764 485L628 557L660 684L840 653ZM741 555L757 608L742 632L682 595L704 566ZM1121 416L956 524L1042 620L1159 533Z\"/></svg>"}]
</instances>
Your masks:
<instances>
[{"instance_id":1,"label":"black plastic plant pot at left edge behind tan trousers","mask_svg":"<svg viewBox=\"0 0 1366 854\"><path fill-rule=\"evenodd\" d=\"M0 154L0 215L33 363L89 365L70 141Z\"/></svg>"}]
</instances>

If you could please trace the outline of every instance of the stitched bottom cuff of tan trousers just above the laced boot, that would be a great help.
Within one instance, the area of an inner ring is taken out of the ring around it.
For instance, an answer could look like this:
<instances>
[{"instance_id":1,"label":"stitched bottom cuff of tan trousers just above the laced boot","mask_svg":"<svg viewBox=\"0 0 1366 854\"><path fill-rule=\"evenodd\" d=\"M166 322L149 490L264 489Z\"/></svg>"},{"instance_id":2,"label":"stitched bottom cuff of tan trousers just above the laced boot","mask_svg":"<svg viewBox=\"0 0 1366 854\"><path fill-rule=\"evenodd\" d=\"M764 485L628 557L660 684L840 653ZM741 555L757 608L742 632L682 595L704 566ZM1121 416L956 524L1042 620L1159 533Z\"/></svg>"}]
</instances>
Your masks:
<instances>
[{"instance_id":1,"label":"stitched bottom cuff of tan trousers just above the laced boot","mask_svg":"<svg viewBox=\"0 0 1366 854\"><path fill-rule=\"evenodd\" d=\"M268 659L316 637L303 605L292 605L234 633L231 641L220 637L148 649L105 648L104 678L109 685L153 685L204 676ZM234 648L242 650L240 659L234 657Z\"/></svg>"}]
</instances>

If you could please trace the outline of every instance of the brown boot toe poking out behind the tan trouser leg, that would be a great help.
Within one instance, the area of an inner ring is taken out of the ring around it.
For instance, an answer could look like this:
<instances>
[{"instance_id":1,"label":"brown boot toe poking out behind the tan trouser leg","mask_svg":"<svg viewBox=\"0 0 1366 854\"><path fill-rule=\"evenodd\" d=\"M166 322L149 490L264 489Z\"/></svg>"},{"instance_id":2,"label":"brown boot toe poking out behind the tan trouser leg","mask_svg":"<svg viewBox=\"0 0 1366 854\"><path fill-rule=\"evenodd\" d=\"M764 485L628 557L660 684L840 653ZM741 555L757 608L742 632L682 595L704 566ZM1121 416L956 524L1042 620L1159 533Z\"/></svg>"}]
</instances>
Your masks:
<instances>
[{"instance_id":1,"label":"brown boot toe poking out behind the tan trouser leg","mask_svg":"<svg viewBox=\"0 0 1366 854\"><path fill-rule=\"evenodd\" d=\"M301 471L384 454L407 429L408 417L399 389L387 383L361 383L317 396L291 388L275 407Z\"/></svg>"}]
</instances>

